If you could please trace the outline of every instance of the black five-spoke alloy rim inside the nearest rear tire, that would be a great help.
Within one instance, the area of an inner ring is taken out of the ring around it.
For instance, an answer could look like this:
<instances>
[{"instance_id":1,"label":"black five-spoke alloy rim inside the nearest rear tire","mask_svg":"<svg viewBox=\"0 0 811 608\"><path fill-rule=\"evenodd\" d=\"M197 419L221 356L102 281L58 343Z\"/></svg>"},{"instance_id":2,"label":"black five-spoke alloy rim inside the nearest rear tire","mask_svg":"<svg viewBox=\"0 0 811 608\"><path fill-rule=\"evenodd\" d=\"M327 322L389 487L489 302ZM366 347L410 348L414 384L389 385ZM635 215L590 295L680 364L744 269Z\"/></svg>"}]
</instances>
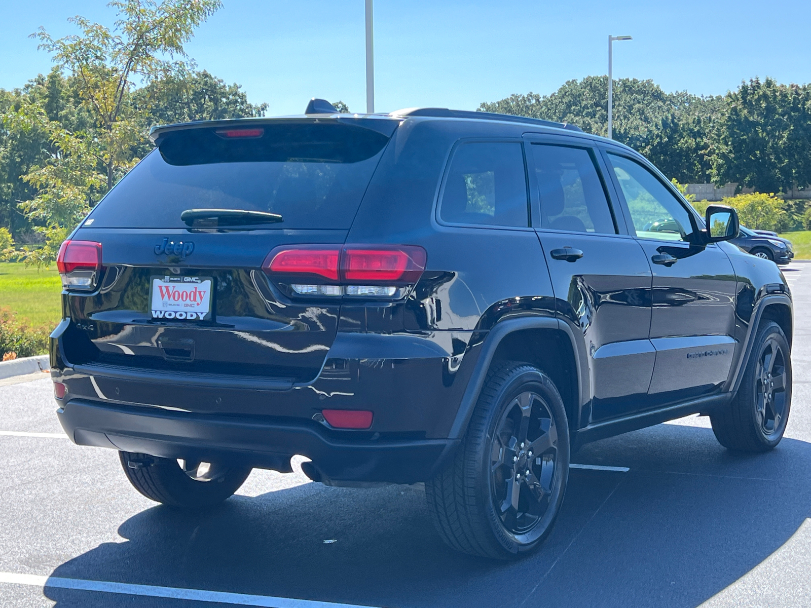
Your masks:
<instances>
[{"instance_id":1,"label":"black five-spoke alloy rim inside the nearest rear tire","mask_svg":"<svg viewBox=\"0 0 811 608\"><path fill-rule=\"evenodd\" d=\"M492 442L491 499L504 529L521 542L543 532L538 524L549 510L557 444L555 418L538 393L521 392L504 409Z\"/></svg>"}]
</instances>

